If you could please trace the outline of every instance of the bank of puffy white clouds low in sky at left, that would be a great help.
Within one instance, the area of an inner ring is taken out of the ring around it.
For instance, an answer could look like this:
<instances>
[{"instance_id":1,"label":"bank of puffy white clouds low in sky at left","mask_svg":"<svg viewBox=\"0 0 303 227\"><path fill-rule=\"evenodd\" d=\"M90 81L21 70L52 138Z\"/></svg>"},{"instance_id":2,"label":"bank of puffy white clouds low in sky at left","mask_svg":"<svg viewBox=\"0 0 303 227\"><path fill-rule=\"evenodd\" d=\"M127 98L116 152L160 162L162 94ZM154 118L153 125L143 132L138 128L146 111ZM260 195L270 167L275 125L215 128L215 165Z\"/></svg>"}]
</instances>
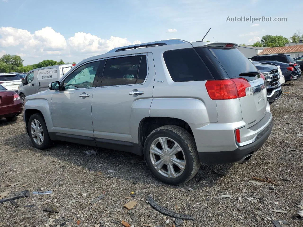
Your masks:
<instances>
[{"instance_id":1,"label":"bank of puffy white clouds low in sky at left","mask_svg":"<svg viewBox=\"0 0 303 227\"><path fill-rule=\"evenodd\" d=\"M26 63L28 58L35 58L32 61L37 63L37 58L43 60L45 57L42 56L45 55L51 55L49 58L53 59L80 61L93 55L106 53L116 47L140 43L139 40L131 42L127 38L115 36L102 39L85 32L76 32L74 36L65 39L51 27L42 28L33 34L23 29L0 28L0 47L6 48L6 51L14 49L14 52L10 54L18 53L21 57L26 56ZM0 52L2 55L5 53L5 51Z\"/></svg>"}]
</instances>

